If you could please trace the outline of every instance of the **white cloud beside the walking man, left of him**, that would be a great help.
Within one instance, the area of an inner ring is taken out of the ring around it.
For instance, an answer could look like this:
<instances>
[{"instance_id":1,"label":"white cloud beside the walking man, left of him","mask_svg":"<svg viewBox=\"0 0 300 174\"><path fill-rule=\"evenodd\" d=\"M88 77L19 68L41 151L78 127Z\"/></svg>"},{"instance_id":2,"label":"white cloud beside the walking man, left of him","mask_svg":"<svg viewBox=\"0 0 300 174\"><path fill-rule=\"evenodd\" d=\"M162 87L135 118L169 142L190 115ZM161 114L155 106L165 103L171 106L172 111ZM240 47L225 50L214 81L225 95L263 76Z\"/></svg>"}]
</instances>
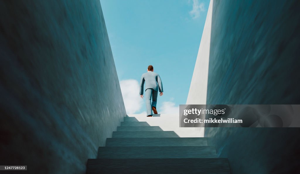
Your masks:
<instances>
[{"instance_id":1,"label":"white cloud beside the walking man, left of him","mask_svg":"<svg viewBox=\"0 0 300 174\"><path fill-rule=\"evenodd\" d=\"M120 87L127 114L138 112L143 105L143 99L140 97L139 82L134 79L120 81Z\"/></svg>"}]
</instances>

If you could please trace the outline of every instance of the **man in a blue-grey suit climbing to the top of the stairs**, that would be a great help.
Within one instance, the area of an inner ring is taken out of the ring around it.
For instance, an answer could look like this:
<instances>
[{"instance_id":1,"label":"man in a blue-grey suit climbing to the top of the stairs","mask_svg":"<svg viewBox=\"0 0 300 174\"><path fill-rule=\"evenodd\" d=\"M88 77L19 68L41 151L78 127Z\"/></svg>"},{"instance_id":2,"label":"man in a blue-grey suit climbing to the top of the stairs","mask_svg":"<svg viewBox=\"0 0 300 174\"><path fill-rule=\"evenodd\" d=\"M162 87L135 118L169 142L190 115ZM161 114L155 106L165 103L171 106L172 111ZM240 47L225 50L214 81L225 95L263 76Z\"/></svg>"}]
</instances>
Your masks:
<instances>
[{"instance_id":1,"label":"man in a blue-grey suit climbing to the top of the stairs","mask_svg":"<svg viewBox=\"0 0 300 174\"><path fill-rule=\"evenodd\" d=\"M141 77L140 82L140 95L141 98L144 98L144 83L146 81L145 86L145 99L146 99L146 109L147 109L147 117L152 117L152 110L153 113L157 114L156 110L156 100L158 90L160 92L160 96L163 95L163 84L161 83L161 77L155 72L153 72L153 66L149 65L148 72L144 73ZM151 97L152 97L152 104L151 104ZM151 110L152 109L152 110Z\"/></svg>"}]
</instances>

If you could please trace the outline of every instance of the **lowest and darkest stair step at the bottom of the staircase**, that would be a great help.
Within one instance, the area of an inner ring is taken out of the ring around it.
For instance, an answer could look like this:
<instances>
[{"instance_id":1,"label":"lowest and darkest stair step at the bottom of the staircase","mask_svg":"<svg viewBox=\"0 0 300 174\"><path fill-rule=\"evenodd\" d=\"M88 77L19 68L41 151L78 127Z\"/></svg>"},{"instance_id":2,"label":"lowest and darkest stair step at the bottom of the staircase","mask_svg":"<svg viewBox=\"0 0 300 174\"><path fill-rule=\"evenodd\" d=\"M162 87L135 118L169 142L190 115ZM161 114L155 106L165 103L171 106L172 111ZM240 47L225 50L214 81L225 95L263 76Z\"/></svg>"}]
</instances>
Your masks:
<instances>
[{"instance_id":1,"label":"lowest and darkest stair step at the bottom of the staircase","mask_svg":"<svg viewBox=\"0 0 300 174\"><path fill-rule=\"evenodd\" d=\"M227 158L88 159L94 173L230 173Z\"/></svg>"}]
</instances>

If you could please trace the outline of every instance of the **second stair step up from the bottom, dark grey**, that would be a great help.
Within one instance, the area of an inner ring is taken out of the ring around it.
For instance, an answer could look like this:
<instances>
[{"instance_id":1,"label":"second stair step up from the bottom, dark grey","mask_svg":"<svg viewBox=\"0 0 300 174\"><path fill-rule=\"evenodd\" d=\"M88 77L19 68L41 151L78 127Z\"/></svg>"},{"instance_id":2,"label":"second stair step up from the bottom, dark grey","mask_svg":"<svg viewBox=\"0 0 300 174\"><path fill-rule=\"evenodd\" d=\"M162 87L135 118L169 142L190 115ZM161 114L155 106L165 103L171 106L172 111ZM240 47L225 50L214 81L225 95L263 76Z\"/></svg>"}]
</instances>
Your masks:
<instances>
[{"instance_id":1,"label":"second stair step up from the bottom, dark grey","mask_svg":"<svg viewBox=\"0 0 300 174\"><path fill-rule=\"evenodd\" d=\"M217 158L217 155L214 146L123 146L99 147L98 158Z\"/></svg>"}]
</instances>

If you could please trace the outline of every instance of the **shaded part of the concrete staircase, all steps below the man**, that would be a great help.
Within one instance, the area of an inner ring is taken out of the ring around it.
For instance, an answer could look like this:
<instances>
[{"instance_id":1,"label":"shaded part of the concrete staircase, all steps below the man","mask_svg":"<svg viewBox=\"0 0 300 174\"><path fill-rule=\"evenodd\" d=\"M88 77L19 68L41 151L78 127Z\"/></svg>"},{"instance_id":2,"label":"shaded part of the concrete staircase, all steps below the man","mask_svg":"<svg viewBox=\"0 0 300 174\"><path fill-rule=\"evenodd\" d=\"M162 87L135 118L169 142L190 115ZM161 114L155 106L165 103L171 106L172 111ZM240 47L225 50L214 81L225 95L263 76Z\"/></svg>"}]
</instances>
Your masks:
<instances>
[{"instance_id":1,"label":"shaded part of the concrete staircase, all steps below the man","mask_svg":"<svg viewBox=\"0 0 300 174\"><path fill-rule=\"evenodd\" d=\"M151 117L149 117L151 118ZM227 158L217 158L206 138L180 138L135 117L124 122L88 159L86 173L230 173Z\"/></svg>"}]
</instances>

